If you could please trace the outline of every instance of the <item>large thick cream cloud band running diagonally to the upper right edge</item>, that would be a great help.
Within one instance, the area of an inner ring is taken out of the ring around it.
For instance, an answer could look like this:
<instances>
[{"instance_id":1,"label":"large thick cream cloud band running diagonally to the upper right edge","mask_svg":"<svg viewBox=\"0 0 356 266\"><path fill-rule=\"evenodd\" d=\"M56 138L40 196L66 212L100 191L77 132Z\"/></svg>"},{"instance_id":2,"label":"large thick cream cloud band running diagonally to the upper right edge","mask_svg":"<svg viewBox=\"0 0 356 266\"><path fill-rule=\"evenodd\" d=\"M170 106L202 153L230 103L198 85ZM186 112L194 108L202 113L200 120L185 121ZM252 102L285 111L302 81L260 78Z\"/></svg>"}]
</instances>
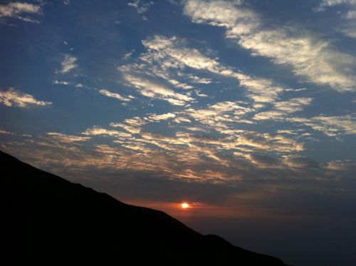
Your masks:
<instances>
[{"instance_id":1,"label":"large thick cream cloud band running diagonally to the upper right edge","mask_svg":"<svg viewBox=\"0 0 356 266\"><path fill-rule=\"evenodd\" d=\"M355 91L355 58L337 51L328 41L304 29L264 28L261 17L234 1L184 1L184 14L193 22L221 26L252 56L271 58L273 63L292 66L293 73L306 81L328 85L336 91Z\"/></svg>"}]
</instances>

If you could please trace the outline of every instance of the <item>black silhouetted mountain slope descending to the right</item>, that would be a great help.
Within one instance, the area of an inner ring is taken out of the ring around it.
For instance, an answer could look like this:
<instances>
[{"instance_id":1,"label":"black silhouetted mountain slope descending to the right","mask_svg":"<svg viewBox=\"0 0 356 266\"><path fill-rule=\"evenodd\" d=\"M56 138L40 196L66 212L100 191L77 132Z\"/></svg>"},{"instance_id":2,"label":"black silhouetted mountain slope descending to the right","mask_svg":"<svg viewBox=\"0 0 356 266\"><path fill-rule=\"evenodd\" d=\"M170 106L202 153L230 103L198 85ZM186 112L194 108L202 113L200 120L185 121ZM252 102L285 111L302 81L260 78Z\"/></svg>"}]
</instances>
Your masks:
<instances>
[{"instance_id":1,"label":"black silhouetted mountain slope descending to the right","mask_svg":"<svg viewBox=\"0 0 356 266\"><path fill-rule=\"evenodd\" d=\"M216 235L201 235L159 210L127 205L1 151L0 158L3 228L13 262L285 265Z\"/></svg>"}]
</instances>

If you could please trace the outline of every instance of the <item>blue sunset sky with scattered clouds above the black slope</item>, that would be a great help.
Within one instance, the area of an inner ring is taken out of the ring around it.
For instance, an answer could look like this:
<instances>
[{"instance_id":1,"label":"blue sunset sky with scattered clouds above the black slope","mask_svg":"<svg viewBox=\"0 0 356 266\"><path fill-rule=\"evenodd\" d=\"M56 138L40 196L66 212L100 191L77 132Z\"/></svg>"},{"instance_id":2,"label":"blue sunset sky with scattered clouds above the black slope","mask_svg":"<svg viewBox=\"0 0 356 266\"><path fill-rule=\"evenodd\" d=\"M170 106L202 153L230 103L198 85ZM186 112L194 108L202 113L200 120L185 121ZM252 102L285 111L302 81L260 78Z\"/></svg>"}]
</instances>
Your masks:
<instances>
[{"instance_id":1,"label":"blue sunset sky with scattered clouds above the black slope","mask_svg":"<svg viewBox=\"0 0 356 266\"><path fill-rule=\"evenodd\" d=\"M355 265L355 0L0 1L0 39L1 150L286 263Z\"/></svg>"}]
</instances>

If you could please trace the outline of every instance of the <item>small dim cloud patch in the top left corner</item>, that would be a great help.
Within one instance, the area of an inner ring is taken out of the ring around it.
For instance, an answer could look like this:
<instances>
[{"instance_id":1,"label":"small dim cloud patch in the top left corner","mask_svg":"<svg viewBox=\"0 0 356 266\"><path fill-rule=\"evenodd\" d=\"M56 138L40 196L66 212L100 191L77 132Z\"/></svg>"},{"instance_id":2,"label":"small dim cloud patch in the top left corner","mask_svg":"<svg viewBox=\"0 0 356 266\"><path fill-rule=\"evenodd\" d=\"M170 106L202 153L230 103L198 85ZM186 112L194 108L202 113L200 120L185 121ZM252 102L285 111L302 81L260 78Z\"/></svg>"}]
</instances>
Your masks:
<instances>
[{"instance_id":1,"label":"small dim cloud patch in the top left corner","mask_svg":"<svg viewBox=\"0 0 356 266\"><path fill-rule=\"evenodd\" d=\"M28 16L21 16L21 14L37 14L43 15L41 6L35 4L27 4L21 2L10 2L9 4L0 4L0 18L8 17L19 19L31 23L39 23L36 19Z\"/></svg>"}]
</instances>

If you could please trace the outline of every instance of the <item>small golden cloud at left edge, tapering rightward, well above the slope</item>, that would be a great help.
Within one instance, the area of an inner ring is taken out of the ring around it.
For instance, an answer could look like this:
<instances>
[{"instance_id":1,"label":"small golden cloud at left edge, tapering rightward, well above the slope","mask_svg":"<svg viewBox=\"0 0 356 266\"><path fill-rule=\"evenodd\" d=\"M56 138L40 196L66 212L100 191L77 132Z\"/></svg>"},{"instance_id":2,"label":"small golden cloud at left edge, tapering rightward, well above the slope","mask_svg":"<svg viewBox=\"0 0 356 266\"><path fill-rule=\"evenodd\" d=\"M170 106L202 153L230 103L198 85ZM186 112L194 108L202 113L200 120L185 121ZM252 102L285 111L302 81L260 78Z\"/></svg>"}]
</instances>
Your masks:
<instances>
[{"instance_id":1,"label":"small golden cloud at left edge, tapering rightward, well above the slope","mask_svg":"<svg viewBox=\"0 0 356 266\"><path fill-rule=\"evenodd\" d=\"M38 101L30 94L23 93L16 88L10 87L7 91L0 91L0 103L5 106L29 108L31 106L51 106L49 101Z\"/></svg>"}]
</instances>

